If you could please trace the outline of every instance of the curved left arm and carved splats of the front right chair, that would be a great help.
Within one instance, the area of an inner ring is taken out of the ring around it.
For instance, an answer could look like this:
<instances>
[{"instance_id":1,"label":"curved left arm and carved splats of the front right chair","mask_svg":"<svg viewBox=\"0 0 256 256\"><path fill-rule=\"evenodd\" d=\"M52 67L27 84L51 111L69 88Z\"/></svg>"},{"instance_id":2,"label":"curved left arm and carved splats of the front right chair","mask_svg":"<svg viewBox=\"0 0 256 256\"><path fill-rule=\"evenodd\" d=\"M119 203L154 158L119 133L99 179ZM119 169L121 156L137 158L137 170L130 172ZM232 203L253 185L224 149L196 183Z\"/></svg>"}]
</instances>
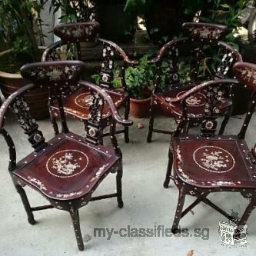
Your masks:
<instances>
[{"instance_id":1,"label":"curved left arm and carved splats of the front right chair","mask_svg":"<svg viewBox=\"0 0 256 256\"><path fill-rule=\"evenodd\" d=\"M238 81L235 79L206 81L176 98L169 99L168 101L172 103L181 102L183 109L181 121L178 123L173 136L176 137L180 135L182 130L188 133L186 125L189 124L189 119L191 118L191 116L188 115L189 102L193 95L200 91L204 91L206 101L204 111L202 111L200 118L198 118L198 125L201 125L200 135L204 137L214 137L216 130L218 130L218 133L221 135L231 115L233 95L231 94L230 88L233 87L234 84L238 84ZM224 108L224 106L226 107ZM224 119L220 121L221 125L218 127L217 119L221 115L224 115ZM189 131L191 132L191 129L189 129ZM193 131L193 133L194 132L196 131Z\"/></svg>"}]
</instances>

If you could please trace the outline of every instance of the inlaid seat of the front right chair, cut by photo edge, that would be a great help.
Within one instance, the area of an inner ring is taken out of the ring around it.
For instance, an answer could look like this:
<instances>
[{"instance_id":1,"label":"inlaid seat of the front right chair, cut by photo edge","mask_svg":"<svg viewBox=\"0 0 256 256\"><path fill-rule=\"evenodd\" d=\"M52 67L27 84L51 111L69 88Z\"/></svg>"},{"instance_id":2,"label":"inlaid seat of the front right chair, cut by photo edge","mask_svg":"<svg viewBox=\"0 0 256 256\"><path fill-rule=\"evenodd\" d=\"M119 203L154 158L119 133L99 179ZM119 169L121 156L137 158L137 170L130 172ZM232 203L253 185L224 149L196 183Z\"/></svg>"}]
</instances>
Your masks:
<instances>
[{"instance_id":1,"label":"inlaid seat of the front right chair, cut by photo edge","mask_svg":"<svg viewBox=\"0 0 256 256\"><path fill-rule=\"evenodd\" d=\"M237 136L172 138L175 173L198 188L256 188L256 165Z\"/></svg>"}]
</instances>

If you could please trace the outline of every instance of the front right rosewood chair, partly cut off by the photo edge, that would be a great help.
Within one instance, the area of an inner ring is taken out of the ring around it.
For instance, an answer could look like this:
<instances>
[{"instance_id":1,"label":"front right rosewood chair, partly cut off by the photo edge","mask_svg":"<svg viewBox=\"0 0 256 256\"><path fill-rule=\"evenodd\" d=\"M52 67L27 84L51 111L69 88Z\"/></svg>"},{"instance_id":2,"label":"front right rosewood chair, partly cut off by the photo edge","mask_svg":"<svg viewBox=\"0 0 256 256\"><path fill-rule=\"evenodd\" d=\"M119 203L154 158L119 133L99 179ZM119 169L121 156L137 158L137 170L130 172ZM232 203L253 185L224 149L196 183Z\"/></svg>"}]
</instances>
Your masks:
<instances>
[{"instance_id":1,"label":"front right rosewood chair, partly cut off by the photo edge","mask_svg":"<svg viewBox=\"0 0 256 256\"><path fill-rule=\"evenodd\" d=\"M251 211L256 207L256 145L250 150L244 140L256 104L256 82L254 79L256 65L238 62L232 69L238 80L208 81L185 92L179 98L170 100L172 103L182 102L185 109L181 122L171 138L168 170L164 183L164 187L168 188L169 181L173 178L179 190L178 204L172 225L174 233L178 231L180 219L201 201L234 221L238 227L246 223ZM234 86L244 85L250 89L251 104L238 135L215 135L216 118L220 114L221 95L224 94L224 87L227 88L230 83L238 84ZM186 99L201 89L208 91L207 103L204 106L204 118L201 122L201 135L181 133L188 121L188 101ZM171 168L173 175L171 175ZM250 200L240 220L235 221L232 216L207 198L208 194L220 191L239 192L244 198ZM187 194L197 199L183 211ZM239 232L235 233L239 234Z\"/></svg>"}]
</instances>

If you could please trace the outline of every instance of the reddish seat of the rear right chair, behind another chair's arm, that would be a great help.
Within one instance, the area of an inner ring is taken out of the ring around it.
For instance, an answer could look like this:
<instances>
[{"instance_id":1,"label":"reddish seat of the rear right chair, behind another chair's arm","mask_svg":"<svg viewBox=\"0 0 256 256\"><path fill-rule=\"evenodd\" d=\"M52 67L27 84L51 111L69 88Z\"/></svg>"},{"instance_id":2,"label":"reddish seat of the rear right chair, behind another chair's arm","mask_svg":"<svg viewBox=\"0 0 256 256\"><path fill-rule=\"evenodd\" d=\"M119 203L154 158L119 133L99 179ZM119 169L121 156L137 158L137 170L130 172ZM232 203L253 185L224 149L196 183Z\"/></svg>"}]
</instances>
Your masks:
<instances>
[{"instance_id":1,"label":"reddish seat of the rear right chair, behind another chair's arm","mask_svg":"<svg viewBox=\"0 0 256 256\"><path fill-rule=\"evenodd\" d=\"M182 116L183 106L181 103L168 102L168 98L175 98L179 95L184 94L189 89L198 85L197 83L187 83L178 85L177 88L171 89L171 91L155 93L154 99L155 104L159 106L163 114L174 117L175 121L178 121ZM188 117L189 118L201 118L204 114L204 106L206 103L206 91L198 91L194 95L187 98L186 103L188 106ZM222 98L221 109L225 109L231 106L231 101L227 98Z\"/></svg>"}]
</instances>

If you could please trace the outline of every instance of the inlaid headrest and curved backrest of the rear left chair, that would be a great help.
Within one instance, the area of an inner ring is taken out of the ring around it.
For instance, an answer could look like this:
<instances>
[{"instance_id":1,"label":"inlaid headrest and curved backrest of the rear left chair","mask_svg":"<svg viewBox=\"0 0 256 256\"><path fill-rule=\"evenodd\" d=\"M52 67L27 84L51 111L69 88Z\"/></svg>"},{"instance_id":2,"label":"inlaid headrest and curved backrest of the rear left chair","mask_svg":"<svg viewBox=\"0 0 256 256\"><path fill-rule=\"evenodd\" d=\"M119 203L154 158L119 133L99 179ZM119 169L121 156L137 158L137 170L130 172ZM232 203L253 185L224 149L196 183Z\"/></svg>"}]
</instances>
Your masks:
<instances>
[{"instance_id":1,"label":"inlaid headrest and curved backrest of the rear left chair","mask_svg":"<svg viewBox=\"0 0 256 256\"><path fill-rule=\"evenodd\" d=\"M97 22L56 25L54 32L61 41L55 42L45 50L42 62L60 61L63 58L82 60L88 73L98 69L96 80L101 87L114 88L113 79L116 76L116 85L126 88L125 68L133 62L118 45L98 38L99 27ZM81 45L82 42L85 44ZM97 64L98 61L100 64Z\"/></svg>"}]
</instances>

